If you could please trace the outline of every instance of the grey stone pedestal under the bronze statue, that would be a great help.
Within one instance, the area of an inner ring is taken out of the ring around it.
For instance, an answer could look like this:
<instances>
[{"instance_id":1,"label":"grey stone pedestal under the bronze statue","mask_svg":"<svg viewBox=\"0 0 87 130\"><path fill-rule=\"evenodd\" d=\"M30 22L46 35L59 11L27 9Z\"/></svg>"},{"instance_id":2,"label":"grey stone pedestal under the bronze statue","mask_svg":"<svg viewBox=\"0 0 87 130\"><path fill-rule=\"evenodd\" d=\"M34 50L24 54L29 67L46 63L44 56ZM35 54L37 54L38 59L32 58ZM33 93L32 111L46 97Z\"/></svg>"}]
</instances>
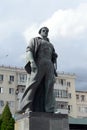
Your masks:
<instances>
[{"instance_id":1,"label":"grey stone pedestal under the bronze statue","mask_svg":"<svg viewBox=\"0 0 87 130\"><path fill-rule=\"evenodd\" d=\"M32 112L16 118L15 130L69 130L68 116Z\"/></svg>"}]
</instances>

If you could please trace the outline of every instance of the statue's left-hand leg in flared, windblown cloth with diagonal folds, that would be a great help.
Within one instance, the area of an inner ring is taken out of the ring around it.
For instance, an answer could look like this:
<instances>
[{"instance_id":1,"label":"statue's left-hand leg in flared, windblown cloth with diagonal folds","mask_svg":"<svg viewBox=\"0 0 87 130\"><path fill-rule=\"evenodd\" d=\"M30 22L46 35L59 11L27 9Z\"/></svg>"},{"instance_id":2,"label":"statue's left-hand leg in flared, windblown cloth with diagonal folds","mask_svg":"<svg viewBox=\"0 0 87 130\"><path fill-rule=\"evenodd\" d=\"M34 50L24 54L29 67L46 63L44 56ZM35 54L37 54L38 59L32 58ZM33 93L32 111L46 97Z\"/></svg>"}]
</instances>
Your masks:
<instances>
[{"instance_id":1,"label":"statue's left-hand leg in flared, windblown cloth with diagonal folds","mask_svg":"<svg viewBox=\"0 0 87 130\"><path fill-rule=\"evenodd\" d=\"M43 69L42 69L43 70ZM39 92L39 86L44 77L44 71L40 71L40 68L38 70L38 73L32 72L29 79L29 85L27 85L22 101L21 101L21 109L26 110L29 109L29 111L35 111L35 104L33 101L35 100L35 95L37 94L37 89ZM34 105L34 106L33 106Z\"/></svg>"}]
</instances>

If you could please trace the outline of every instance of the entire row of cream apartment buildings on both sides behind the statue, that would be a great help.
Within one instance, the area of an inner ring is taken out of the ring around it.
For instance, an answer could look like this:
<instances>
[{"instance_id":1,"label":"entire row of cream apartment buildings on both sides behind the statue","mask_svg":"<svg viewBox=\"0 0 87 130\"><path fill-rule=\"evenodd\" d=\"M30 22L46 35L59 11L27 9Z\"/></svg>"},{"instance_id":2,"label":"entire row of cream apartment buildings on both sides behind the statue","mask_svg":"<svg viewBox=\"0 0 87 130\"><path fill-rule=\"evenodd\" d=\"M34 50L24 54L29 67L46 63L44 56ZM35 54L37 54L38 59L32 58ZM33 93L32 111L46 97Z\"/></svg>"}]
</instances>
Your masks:
<instances>
[{"instance_id":1,"label":"entire row of cream apartment buildings on both sides behind the statue","mask_svg":"<svg viewBox=\"0 0 87 130\"><path fill-rule=\"evenodd\" d=\"M58 73L55 79L55 113L70 117L87 117L87 92L75 90L75 74ZM0 114L6 102L12 114L20 108L27 80L24 68L0 66Z\"/></svg>"}]
</instances>

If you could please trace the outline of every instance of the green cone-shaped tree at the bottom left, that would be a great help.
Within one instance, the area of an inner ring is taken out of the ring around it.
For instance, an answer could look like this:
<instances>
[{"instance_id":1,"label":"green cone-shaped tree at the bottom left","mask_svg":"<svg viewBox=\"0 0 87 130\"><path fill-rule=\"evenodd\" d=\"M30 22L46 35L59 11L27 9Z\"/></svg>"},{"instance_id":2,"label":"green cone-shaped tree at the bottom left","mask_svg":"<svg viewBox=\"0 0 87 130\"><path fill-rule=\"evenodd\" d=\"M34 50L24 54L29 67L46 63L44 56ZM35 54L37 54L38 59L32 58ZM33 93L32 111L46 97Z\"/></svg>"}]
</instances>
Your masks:
<instances>
[{"instance_id":1,"label":"green cone-shaped tree at the bottom left","mask_svg":"<svg viewBox=\"0 0 87 130\"><path fill-rule=\"evenodd\" d=\"M14 130L14 119L10 112L8 103L6 104L1 115L1 129L0 130Z\"/></svg>"}]
</instances>

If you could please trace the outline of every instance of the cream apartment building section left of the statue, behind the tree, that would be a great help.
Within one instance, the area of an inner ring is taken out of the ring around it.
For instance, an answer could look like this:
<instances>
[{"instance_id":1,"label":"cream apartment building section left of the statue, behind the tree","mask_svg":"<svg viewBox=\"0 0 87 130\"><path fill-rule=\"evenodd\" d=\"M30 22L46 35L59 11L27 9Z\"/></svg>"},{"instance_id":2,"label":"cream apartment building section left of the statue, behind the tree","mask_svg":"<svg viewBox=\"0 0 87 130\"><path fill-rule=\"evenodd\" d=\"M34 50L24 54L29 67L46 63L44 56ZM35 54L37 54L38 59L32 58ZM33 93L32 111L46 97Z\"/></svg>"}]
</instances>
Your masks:
<instances>
[{"instance_id":1,"label":"cream apartment building section left of the statue, behind the tree","mask_svg":"<svg viewBox=\"0 0 87 130\"><path fill-rule=\"evenodd\" d=\"M18 109L17 88L26 84L26 72L22 68L0 66L0 114L6 102L9 103L12 114Z\"/></svg>"}]
</instances>

